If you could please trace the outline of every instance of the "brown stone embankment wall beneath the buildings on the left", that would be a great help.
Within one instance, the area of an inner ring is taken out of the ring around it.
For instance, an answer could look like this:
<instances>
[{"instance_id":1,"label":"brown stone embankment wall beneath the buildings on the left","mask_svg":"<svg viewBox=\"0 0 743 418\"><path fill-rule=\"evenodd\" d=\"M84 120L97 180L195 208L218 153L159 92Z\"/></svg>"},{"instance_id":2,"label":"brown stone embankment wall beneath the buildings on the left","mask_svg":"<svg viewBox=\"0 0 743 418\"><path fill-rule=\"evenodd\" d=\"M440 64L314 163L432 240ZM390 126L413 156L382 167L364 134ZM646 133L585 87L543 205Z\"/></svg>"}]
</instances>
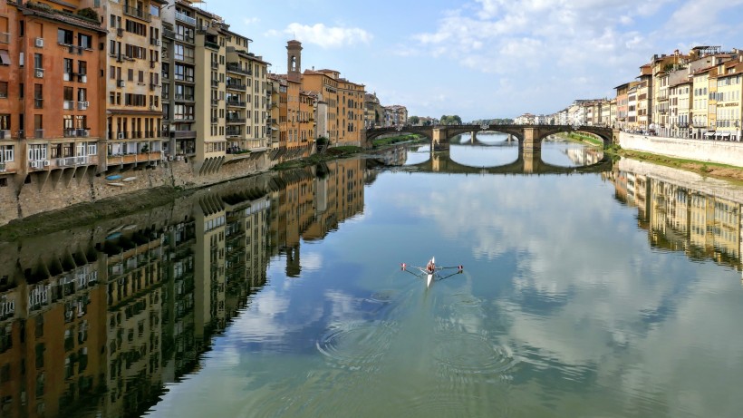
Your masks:
<instances>
[{"instance_id":1,"label":"brown stone embankment wall beneath the buildings on the left","mask_svg":"<svg viewBox=\"0 0 743 418\"><path fill-rule=\"evenodd\" d=\"M199 175L192 161L174 160L116 172L121 175L117 180L107 180L104 174L96 175L94 167L39 170L25 179L7 176L5 186L0 187L0 226L14 219L137 190L163 186L197 189L252 176L270 170L274 165L275 161L268 158L267 152L255 152L244 158L228 160L218 170L206 175Z\"/></svg>"}]
</instances>

